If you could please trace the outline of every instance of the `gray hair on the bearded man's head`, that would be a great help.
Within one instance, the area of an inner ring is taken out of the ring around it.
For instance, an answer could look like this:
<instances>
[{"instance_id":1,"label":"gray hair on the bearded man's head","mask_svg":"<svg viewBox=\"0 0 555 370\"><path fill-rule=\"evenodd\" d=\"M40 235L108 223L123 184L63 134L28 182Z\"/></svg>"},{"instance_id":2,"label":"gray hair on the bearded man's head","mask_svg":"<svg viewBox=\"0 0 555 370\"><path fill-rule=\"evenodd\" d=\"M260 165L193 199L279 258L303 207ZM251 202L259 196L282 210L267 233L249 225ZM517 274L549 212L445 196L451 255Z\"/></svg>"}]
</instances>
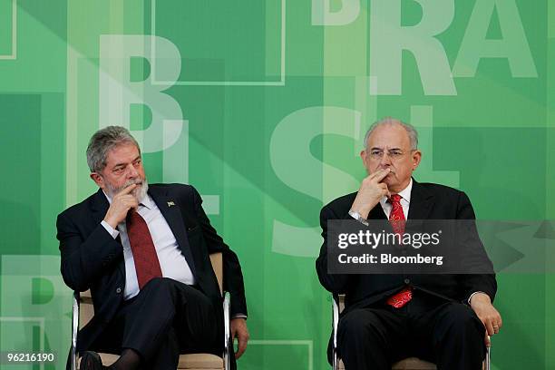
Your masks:
<instances>
[{"instance_id":1,"label":"gray hair on the bearded man's head","mask_svg":"<svg viewBox=\"0 0 555 370\"><path fill-rule=\"evenodd\" d=\"M91 172L100 172L106 167L108 152L122 144L133 144L139 153L141 148L131 136L131 133L122 126L108 126L94 132L87 147L87 164Z\"/></svg>"}]
</instances>

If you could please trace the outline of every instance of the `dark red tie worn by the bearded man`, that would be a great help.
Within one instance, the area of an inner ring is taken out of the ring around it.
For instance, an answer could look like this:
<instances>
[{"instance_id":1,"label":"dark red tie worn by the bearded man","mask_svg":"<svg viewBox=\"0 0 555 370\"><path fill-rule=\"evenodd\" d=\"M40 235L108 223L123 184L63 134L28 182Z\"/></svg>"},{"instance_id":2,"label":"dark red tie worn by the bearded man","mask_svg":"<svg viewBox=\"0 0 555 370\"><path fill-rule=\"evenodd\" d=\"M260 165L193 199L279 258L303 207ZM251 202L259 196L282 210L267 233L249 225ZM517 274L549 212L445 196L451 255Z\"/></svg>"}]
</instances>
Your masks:
<instances>
[{"instance_id":1,"label":"dark red tie worn by the bearded man","mask_svg":"<svg viewBox=\"0 0 555 370\"><path fill-rule=\"evenodd\" d=\"M145 220L134 209L131 209L127 214L127 235L135 261L139 288L142 289L151 278L161 277L162 275L151 232Z\"/></svg>"}]
</instances>

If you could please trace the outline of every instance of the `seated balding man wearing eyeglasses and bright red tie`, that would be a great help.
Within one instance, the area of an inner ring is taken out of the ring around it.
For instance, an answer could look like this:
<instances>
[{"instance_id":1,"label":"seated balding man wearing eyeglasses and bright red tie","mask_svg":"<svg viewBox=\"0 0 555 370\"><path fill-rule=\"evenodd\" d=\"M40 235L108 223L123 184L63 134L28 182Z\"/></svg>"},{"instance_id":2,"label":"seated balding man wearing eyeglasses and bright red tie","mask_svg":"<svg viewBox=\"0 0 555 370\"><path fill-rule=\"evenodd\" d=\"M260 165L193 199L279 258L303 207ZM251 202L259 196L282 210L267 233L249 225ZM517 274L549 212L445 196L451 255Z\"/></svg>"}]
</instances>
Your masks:
<instances>
[{"instance_id":1,"label":"seated balding man wearing eyeglasses and bright red tie","mask_svg":"<svg viewBox=\"0 0 555 370\"><path fill-rule=\"evenodd\" d=\"M356 219L367 225L368 219L389 219L395 229L394 222L405 219L475 219L463 191L413 179L422 152L412 125L393 118L375 122L360 156L368 176L357 192L322 209L325 240L316 259L320 283L346 295L337 328L337 354L346 370L389 370L410 356L440 370L482 369L489 336L502 324L492 306L497 290L493 274L328 273L328 220ZM331 363L329 351L328 357Z\"/></svg>"}]
</instances>

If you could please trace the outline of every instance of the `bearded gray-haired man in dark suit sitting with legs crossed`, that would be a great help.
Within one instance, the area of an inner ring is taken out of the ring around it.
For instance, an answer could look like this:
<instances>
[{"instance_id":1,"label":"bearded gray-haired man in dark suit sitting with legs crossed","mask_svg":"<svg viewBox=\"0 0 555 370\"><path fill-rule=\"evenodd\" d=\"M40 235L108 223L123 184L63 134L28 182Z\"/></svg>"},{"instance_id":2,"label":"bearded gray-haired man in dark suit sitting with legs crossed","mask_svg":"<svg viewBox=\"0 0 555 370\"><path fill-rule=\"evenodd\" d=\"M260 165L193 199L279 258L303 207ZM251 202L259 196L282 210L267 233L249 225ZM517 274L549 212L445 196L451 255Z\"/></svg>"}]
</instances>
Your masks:
<instances>
[{"instance_id":1,"label":"bearded gray-haired man in dark suit sitting with legs crossed","mask_svg":"<svg viewBox=\"0 0 555 370\"><path fill-rule=\"evenodd\" d=\"M215 252L222 253L239 358L248 342L239 259L210 226L197 190L149 185L139 145L122 127L94 133L87 162L100 189L57 220L63 281L93 297L93 319L78 337L81 369L107 368L94 351L120 354L109 368L126 370L174 370L183 352L220 355Z\"/></svg>"}]
</instances>

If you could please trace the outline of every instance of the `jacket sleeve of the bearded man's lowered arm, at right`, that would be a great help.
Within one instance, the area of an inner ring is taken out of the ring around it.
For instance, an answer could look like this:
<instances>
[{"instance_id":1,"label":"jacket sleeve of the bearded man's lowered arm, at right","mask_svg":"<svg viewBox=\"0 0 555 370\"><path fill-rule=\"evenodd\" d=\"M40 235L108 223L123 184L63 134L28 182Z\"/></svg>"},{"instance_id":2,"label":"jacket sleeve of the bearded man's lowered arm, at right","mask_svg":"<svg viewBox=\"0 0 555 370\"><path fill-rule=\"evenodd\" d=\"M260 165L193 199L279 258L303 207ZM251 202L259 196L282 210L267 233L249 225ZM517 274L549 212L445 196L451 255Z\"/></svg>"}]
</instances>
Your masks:
<instances>
[{"instance_id":1,"label":"jacket sleeve of the bearded man's lowered arm, at right","mask_svg":"<svg viewBox=\"0 0 555 370\"><path fill-rule=\"evenodd\" d=\"M216 229L210 225L210 220L204 209L202 209L202 199L199 192L192 188L193 204L195 213L202 229L202 235L206 240L209 253L221 252L223 260L223 289L231 295L230 310L231 316L238 314L248 315L247 299L245 297L245 284L243 273L239 264L239 258L233 250L221 239Z\"/></svg>"}]
</instances>

